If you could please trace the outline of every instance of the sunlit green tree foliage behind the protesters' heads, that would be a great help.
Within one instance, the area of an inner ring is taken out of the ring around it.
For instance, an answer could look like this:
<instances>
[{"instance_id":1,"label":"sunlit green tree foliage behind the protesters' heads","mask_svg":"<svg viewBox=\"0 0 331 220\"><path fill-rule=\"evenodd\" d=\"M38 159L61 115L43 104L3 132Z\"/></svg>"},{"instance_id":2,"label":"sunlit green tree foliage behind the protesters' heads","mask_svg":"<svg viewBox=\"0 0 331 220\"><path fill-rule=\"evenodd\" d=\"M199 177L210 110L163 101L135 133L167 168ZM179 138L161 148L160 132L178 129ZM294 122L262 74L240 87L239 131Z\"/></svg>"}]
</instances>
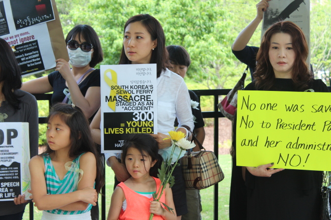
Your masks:
<instances>
[{"instance_id":1,"label":"sunlit green tree foliage behind the protesters' heads","mask_svg":"<svg viewBox=\"0 0 331 220\"><path fill-rule=\"evenodd\" d=\"M311 61L314 71L329 71L331 18L329 1L311 0ZM123 27L136 14L157 18L166 34L166 44L184 46L192 64L187 75L200 88L231 88L244 65L232 54L239 32L256 16L258 0L72 0L57 1L66 35L77 24L91 25L99 35L103 65L118 64ZM249 45L259 46L261 27ZM248 79L250 80L250 78ZM198 88L197 88L198 89Z\"/></svg>"}]
</instances>

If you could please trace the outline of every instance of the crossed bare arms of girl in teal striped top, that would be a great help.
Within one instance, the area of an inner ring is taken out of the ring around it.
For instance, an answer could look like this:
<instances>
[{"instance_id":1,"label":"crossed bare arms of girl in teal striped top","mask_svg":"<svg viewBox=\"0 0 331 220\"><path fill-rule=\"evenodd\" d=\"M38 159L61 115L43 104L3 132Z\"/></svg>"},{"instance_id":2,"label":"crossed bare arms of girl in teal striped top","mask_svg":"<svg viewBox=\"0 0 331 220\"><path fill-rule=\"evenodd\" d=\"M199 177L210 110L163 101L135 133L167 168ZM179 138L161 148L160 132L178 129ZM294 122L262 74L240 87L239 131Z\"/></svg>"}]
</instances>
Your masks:
<instances>
[{"instance_id":1,"label":"crossed bare arms of girl in teal striped top","mask_svg":"<svg viewBox=\"0 0 331 220\"><path fill-rule=\"evenodd\" d=\"M82 160L84 155L81 156L80 163L86 161L86 160ZM93 158L88 155L86 159L92 160ZM95 166L93 166L93 164L95 164ZM91 167L87 169L86 166L91 166ZM95 175L93 173L89 174L90 171L93 169L95 169L94 172L96 173L95 159L94 161L92 160L92 163L90 164L87 164L85 166L80 166L81 169L85 169L86 171L84 172L84 175L78 184L78 190L66 194L47 195L44 167L45 165L42 156L38 156L38 155L34 156L29 163L29 169L31 173L32 194L33 194L34 202L36 203L36 206L39 210L52 210L57 208L61 208L63 210L72 210L72 211L85 210L86 207L88 206L88 203L91 203L92 205L96 204L95 202L97 200L96 199L97 193L93 188ZM93 176L94 179L92 180ZM93 183L91 184L92 181ZM70 207L69 205L71 205L70 209L69 209Z\"/></svg>"}]
</instances>

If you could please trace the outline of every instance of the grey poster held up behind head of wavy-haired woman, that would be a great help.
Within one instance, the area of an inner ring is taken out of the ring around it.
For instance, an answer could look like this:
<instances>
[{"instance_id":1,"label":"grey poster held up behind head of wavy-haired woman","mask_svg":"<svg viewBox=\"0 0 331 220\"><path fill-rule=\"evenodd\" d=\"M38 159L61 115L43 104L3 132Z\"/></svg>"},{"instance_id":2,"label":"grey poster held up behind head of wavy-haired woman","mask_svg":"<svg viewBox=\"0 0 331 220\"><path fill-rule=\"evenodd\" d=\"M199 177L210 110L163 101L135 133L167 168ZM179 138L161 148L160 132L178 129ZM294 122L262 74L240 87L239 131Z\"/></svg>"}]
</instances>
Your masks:
<instances>
[{"instance_id":1,"label":"grey poster held up behind head of wavy-haired woman","mask_svg":"<svg viewBox=\"0 0 331 220\"><path fill-rule=\"evenodd\" d=\"M309 0L273 0L263 14L261 39L265 31L278 21L292 21L298 25L309 40L310 1Z\"/></svg>"}]
</instances>

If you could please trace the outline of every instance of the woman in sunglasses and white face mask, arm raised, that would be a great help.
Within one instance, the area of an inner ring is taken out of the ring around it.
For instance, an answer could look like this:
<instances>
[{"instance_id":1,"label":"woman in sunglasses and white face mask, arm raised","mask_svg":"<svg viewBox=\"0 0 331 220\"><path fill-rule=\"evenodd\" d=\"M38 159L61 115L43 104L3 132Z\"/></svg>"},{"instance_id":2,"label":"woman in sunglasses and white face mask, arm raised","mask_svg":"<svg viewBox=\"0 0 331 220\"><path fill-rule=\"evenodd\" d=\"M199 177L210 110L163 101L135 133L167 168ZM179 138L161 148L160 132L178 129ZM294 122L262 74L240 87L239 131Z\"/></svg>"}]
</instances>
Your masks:
<instances>
[{"instance_id":1,"label":"woman in sunglasses and white face mask, arm raised","mask_svg":"<svg viewBox=\"0 0 331 220\"><path fill-rule=\"evenodd\" d=\"M77 25L67 35L66 44L70 61L57 59L56 71L24 82L22 90L30 93L53 91L52 104L77 105L92 119L100 107L100 70L93 69L103 60L99 38L91 26Z\"/></svg>"}]
</instances>

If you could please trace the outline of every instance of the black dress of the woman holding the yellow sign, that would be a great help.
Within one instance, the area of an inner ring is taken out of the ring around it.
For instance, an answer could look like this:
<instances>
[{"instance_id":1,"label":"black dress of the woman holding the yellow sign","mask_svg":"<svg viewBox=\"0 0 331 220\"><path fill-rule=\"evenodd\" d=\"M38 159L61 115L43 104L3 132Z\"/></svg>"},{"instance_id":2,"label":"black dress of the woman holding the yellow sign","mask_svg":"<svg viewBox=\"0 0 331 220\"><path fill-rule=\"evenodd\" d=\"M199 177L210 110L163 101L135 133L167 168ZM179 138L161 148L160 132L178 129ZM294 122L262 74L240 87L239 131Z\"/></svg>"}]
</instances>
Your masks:
<instances>
[{"instance_id":1,"label":"black dress of the woman holding the yellow sign","mask_svg":"<svg viewBox=\"0 0 331 220\"><path fill-rule=\"evenodd\" d=\"M309 88L328 92L320 79L312 80ZM255 83L248 84L245 90L256 90ZM270 90L295 91L295 88L292 79L277 78ZM319 219L321 171L285 169L271 177L258 177L246 170L245 177L247 220Z\"/></svg>"}]
</instances>

